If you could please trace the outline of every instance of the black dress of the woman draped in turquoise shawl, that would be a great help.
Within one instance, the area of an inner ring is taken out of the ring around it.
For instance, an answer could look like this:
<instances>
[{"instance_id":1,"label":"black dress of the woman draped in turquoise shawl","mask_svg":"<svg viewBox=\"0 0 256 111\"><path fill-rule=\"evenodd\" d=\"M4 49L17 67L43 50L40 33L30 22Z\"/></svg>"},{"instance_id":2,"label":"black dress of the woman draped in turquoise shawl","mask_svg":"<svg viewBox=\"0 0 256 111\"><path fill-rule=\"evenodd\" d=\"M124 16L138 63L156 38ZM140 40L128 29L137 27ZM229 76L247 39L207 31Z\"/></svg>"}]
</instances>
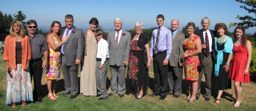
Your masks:
<instances>
[{"instance_id":1,"label":"black dress of the woman draped in turquoise shawl","mask_svg":"<svg viewBox=\"0 0 256 111\"><path fill-rule=\"evenodd\" d=\"M218 42L216 42L217 50L223 50L225 48L224 47L225 43L226 42L220 45ZM228 78L229 71L226 72L225 68L223 68L225 66L225 63L228 61L228 55L229 53L223 52L223 63L220 64L219 76L215 77L214 73L212 74L212 89L215 89L215 90L231 89L231 80Z\"/></svg>"}]
</instances>

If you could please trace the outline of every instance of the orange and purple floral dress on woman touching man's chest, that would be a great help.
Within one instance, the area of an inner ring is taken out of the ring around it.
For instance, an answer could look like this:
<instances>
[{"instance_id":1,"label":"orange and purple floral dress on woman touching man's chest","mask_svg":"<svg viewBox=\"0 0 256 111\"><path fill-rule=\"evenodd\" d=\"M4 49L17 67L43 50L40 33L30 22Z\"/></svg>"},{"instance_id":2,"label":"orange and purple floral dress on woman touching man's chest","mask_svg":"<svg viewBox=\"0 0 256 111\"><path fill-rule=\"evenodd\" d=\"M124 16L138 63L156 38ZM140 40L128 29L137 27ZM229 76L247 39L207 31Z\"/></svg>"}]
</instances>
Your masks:
<instances>
[{"instance_id":1,"label":"orange and purple floral dress on woman touching man's chest","mask_svg":"<svg viewBox=\"0 0 256 111\"><path fill-rule=\"evenodd\" d=\"M52 35L52 33L50 33ZM49 35L50 35L49 34ZM60 40L56 37L53 37L55 45L60 44ZM53 51L52 47L50 46L49 42L47 41L49 47L49 57L48 57L48 64L45 69L45 78L50 80L55 80L60 78L60 49L57 52Z\"/></svg>"}]
</instances>

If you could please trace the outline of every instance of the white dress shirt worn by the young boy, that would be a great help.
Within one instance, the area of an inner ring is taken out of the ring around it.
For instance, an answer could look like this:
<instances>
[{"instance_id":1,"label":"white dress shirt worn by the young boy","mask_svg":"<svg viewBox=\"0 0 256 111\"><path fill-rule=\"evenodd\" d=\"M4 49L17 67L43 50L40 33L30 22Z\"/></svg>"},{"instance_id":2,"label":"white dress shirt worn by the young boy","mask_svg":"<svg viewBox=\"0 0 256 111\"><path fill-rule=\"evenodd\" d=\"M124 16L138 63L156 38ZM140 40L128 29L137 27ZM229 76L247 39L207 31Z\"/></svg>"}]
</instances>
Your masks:
<instances>
[{"instance_id":1,"label":"white dress shirt worn by the young boy","mask_svg":"<svg viewBox=\"0 0 256 111\"><path fill-rule=\"evenodd\" d=\"M96 47L97 49L97 47ZM108 42L104 40L103 38L100 39L98 43L98 51L96 58L101 58L101 64L104 64L106 61L106 58L109 58L108 56Z\"/></svg>"}]
</instances>

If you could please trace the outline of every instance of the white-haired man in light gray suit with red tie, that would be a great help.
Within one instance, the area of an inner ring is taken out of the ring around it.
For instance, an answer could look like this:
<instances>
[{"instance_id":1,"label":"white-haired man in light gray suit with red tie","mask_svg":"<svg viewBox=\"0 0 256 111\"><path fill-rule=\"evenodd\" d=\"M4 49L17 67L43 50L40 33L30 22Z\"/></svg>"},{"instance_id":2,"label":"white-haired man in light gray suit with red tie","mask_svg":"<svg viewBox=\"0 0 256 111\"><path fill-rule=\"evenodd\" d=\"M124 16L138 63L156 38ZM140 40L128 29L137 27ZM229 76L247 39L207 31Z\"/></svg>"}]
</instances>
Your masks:
<instances>
[{"instance_id":1,"label":"white-haired man in light gray suit with red tie","mask_svg":"<svg viewBox=\"0 0 256 111\"><path fill-rule=\"evenodd\" d=\"M124 97L125 92L125 70L129 61L131 33L122 29L123 20L116 18L114 20L116 30L108 33L108 49L109 49L109 66L111 71L111 96L117 92L121 97ZM117 83L118 71L118 83Z\"/></svg>"}]
</instances>

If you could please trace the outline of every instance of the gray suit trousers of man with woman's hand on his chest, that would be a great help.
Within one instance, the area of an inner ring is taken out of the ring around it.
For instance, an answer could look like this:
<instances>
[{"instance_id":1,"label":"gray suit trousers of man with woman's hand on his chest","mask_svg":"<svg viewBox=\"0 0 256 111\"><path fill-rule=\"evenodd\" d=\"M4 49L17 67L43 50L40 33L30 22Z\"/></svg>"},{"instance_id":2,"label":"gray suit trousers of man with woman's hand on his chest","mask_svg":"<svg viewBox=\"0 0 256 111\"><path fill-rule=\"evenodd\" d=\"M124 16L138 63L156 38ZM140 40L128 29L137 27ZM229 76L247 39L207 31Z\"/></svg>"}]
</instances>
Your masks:
<instances>
[{"instance_id":1,"label":"gray suit trousers of man with woman's hand on his chest","mask_svg":"<svg viewBox=\"0 0 256 111\"><path fill-rule=\"evenodd\" d=\"M65 81L65 93L77 95L78 92L78 65L67 66L65 56L61 58L61 69Z\"/></svg>"}]
</instances>

